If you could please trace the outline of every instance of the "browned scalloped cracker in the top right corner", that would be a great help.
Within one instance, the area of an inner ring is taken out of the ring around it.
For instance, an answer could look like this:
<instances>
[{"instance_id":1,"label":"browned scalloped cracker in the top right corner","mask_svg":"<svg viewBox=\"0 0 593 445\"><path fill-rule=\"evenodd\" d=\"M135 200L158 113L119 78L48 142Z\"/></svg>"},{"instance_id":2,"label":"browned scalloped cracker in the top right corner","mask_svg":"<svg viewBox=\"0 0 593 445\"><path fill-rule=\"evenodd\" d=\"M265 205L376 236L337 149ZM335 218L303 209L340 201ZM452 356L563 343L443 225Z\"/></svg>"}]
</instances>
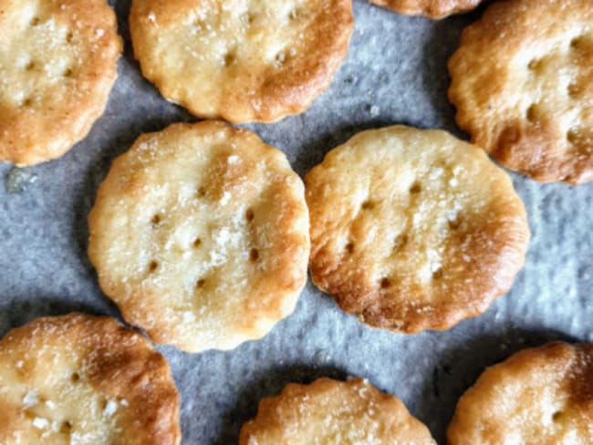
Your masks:
<instances>
[{"instance_id":1,"label":"browned scalloped cracker in the top right corner","mask_svg":"<svg viewBox=\"0 0 593 445\"><path fill-rule=\"evenodd\" d=\"M496 2L449 62L457 123L537 181L593 180L593 8L588 0Z\"/></svg>"}]
</instances>

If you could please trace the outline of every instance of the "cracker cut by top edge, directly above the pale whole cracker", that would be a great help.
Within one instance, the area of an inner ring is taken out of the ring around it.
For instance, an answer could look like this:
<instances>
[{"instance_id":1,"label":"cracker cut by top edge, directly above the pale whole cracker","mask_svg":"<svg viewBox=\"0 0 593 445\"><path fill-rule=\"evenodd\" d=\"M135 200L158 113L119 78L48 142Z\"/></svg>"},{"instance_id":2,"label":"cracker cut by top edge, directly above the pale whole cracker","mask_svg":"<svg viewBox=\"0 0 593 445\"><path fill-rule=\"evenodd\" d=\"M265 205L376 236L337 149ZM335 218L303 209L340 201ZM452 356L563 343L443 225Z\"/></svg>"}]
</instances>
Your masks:
<instances>
[{"instance_id":1,"label":"cracker cut by top edge, directly above the pale whole cracker","mask_svg":"<svg viewBox=\"0 0 593 445\"><path fill-rule=\"evenodd\" d=\"M353 30L350 0L134 0L142 73L201 118L271 122L329 87Z\"/></svg>"}]
</instances>

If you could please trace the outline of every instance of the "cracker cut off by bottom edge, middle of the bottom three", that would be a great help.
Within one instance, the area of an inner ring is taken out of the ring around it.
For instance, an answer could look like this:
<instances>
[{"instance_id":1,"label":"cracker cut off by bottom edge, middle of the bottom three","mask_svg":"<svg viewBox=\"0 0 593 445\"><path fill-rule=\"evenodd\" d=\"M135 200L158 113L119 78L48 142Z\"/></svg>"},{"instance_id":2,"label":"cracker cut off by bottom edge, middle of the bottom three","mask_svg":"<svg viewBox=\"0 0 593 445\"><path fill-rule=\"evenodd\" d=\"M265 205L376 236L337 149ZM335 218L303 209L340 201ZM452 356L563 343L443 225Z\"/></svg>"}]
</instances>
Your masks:
<instances>
[{"instance_id":1,"label":"cracker cut off by bottom edge, middle of the bottom three","mask_svg":"<svg viewBox=\"0 0 593 445\"><path fill-rule=\"evenodd\" d=\"M319 378L310 385L286 385L265 398L255 419L244 424L240 445L436 444L399 398L362 378L347 382Z\"/></svg>"}]
</instances>

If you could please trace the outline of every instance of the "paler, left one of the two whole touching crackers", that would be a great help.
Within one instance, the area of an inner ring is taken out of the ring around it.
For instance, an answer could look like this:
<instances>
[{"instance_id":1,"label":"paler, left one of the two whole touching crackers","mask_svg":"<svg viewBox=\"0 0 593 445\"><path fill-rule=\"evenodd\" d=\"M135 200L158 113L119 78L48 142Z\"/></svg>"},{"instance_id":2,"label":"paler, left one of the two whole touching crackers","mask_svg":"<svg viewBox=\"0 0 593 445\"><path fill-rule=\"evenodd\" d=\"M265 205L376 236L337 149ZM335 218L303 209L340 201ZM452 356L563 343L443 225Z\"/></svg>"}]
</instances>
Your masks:
<instances>
[{"instance_id":1,"label":"paler, left one of the two whole touching crackers","mask_svg":"<svg viewBox=\"0 0 593 445\"><path fill-rule=\"evenodd\" d=\"M222 122L141 136L88 224L103 291L131 324L189 352L265 336L307 282L302 181L281 151Z\"/></svg>"}]
</instances>

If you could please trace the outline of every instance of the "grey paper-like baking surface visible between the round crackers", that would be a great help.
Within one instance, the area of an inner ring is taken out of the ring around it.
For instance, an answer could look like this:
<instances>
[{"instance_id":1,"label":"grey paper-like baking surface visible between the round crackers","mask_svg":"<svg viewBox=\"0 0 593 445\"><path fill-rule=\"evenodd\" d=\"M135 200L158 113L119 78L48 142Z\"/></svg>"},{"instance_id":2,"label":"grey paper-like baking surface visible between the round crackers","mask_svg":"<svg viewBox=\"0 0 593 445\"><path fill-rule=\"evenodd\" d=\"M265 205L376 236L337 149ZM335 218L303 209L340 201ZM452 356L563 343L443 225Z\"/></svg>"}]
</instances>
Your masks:
<instances>
[{"instance_id":1,"label":"grey paper-like baking surface visible between the round crackers","mask_svg":"<svg viewBox=\"0 0 593 445\"><path fill-rule=\"evenodd\" d=\"M119 316L88 263L87 213L110 161L142 132L193 120L141 77L130 1L112 4L126 47L105 115L60 160L25 171L0 164L0 177L10 178L0 184L0 335L36 316ZM446 60L482 9L432 22L355 0L349 57L328 92L304 115L247 127L284 150L301 175L361 129L406 123L463 137L446 99ZM183 443L235 443L260 398L321 376L369 378L444 443L457 398L485 366L550 339L593 341L593 183L542 185L515 174L513 181L533 239L512 292L484 316L447 332L394 335L359 324L309 283L293 316L261 341L198 355L159 347L182 394Z\"/></svg>"}]
</instances>

